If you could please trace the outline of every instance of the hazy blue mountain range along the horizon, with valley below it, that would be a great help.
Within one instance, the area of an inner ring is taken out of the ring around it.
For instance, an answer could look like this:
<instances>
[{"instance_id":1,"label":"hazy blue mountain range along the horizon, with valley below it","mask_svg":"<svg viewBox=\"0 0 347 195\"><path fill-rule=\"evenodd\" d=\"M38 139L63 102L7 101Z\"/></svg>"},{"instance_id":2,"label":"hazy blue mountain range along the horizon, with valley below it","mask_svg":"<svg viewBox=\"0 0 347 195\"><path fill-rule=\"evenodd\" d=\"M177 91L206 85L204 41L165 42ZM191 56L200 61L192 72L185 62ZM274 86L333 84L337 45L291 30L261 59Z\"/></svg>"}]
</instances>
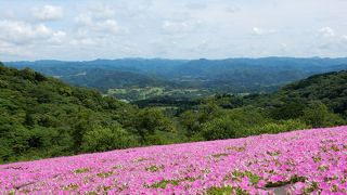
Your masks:
<instances>
[{"instance_id":1,"label":"hazy blue mountain range along the horizon, with valley below it","mask_svg":"<svg viewBox=\"0 0 347 195\"><path fill-rule=\"evenodd\" d=\"M340 58L226 58L163 60L121 58L83 62L5 62L30 67L75 86L101 91L129 87L204 89L216 93L271 92L314 74L347 69Z\"/></svg>"}]
</instances>

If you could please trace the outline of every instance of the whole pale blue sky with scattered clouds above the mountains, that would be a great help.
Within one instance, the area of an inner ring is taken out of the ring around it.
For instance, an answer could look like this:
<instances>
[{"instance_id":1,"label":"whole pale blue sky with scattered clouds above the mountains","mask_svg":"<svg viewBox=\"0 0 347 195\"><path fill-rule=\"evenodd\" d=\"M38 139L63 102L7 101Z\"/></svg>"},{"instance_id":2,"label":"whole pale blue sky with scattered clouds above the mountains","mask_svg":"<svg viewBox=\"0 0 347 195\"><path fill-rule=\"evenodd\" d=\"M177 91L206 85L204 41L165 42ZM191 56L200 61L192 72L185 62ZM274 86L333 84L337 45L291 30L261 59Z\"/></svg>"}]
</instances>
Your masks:
<instances>
[{"instance_id":1,"label":"whole pale blue sky with scattered clouds above the mountains","mask_svg":"<svg viewBox=\"0 0 347 195\"><path fill-rule=\"evenodd\" d=\"M0 0L0 61L347 56L347 0Z\"/></svg>"}]
</instances>

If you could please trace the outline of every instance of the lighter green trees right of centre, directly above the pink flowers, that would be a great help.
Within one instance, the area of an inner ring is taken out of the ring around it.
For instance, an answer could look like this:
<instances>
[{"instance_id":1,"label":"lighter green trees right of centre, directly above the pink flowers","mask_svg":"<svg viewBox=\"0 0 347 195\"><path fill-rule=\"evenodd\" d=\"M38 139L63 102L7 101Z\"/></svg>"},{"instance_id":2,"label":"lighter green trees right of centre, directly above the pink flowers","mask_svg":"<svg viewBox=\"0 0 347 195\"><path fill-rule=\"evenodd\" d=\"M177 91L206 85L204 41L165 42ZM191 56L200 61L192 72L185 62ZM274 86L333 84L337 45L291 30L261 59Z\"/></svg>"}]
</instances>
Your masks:
<instances>
[{"instance_id":1,"label":"lighter green trees right of centre, directly above the pink flowers","mask_svg":"<svg viewBox=\"0 0 347 195\"><path fill-rule=\"evenodd\" d=\"M281 107L247 105L222 108L218 101L208 101L197 110L180 115L190 140L234 139L346 123L346 119L321 102L311 102L305 107L286 104Z\"/></svg>"}]
</instances>

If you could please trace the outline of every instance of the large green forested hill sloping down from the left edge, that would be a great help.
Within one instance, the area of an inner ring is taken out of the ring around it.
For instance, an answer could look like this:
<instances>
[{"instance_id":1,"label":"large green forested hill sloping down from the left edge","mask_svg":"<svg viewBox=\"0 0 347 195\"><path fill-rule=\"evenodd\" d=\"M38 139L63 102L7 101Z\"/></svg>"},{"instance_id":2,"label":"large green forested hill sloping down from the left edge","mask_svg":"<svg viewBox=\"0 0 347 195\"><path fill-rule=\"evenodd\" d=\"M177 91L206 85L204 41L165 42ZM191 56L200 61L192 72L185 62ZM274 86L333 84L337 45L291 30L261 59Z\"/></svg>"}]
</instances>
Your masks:
<instances>
[{"instance_id":1,"label":"large green forested hill sloping down from the left edge","mask_svg":"<svg viewBox=\"0 0 347 195\"><path fill-rule=\"evenodd\" d=\"M160 144L172 131L156 109L141 109L31 69L0 64L0 162ZM154 141L151 141L154 140Z\"/></svg>"}]
</instances>

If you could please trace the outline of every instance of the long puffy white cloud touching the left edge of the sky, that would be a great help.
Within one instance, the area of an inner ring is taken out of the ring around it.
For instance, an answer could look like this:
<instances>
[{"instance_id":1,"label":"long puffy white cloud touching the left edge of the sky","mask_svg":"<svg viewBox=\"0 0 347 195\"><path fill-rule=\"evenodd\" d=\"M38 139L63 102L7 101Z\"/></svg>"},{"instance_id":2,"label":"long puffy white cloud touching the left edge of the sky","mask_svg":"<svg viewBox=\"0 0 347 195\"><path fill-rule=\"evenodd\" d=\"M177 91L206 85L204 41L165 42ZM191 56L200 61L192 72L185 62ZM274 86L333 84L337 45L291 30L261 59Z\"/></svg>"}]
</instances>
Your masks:
<instances>
[{"instance_id":1,"label":"long puffy white cloud touching the left edge of the sky","mask_svg":"<svg viewBox=\"0 0 347 195\"><path fill-rule=\"evenodd\" d=\"M57 41L66 36L43 24L31 25L21 21L0 21L0 39L13 44L28 44L38 40Z\"/></svg>"}]
</instances>

